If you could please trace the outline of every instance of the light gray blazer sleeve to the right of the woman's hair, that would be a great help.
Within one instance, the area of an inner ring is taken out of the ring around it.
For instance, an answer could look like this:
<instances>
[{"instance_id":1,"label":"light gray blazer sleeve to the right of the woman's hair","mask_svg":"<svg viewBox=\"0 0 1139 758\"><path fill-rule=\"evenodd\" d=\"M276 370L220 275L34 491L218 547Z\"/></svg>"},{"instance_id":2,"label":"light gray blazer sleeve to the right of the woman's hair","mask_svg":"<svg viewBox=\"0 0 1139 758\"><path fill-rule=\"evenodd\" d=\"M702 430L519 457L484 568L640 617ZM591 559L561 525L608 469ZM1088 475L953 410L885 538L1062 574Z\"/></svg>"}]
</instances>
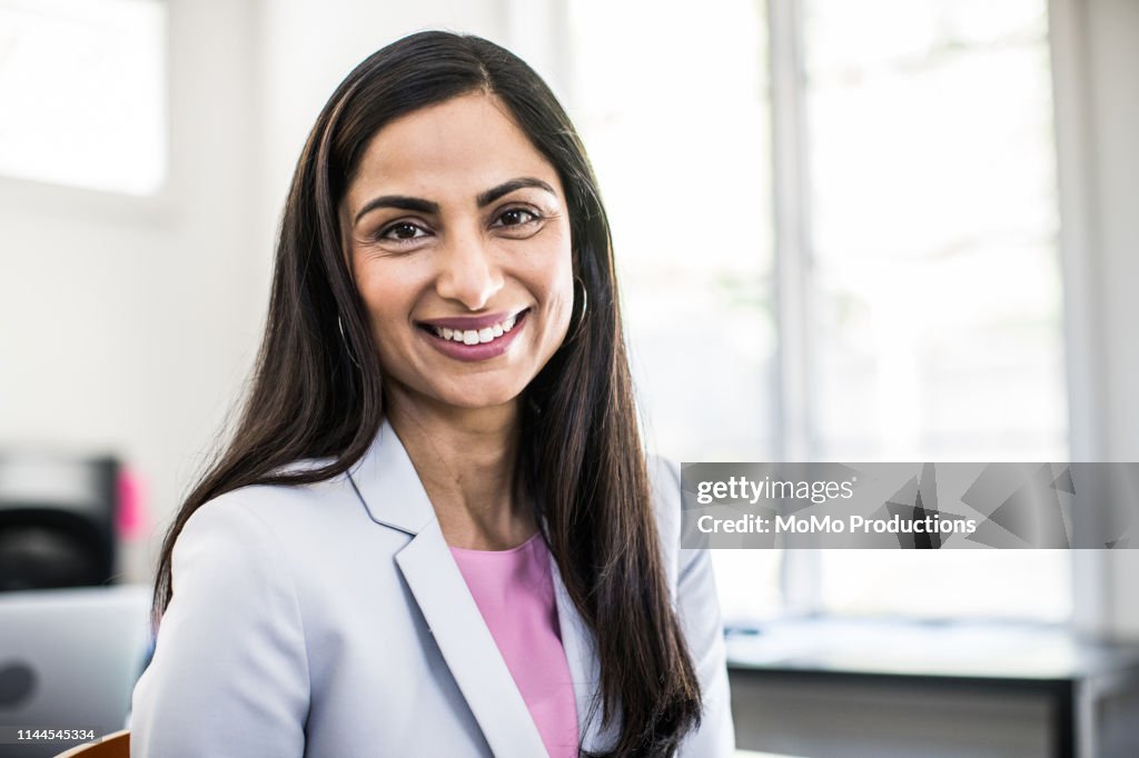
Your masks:
<instances>
[{"instance_id":1,"label":"light gray blazer sleeve to the right of the woman's hair","mask_svg":"<svg viewBox=\"0 0 1139 758\"><path fill-rule=\"evenodd\" d=\"M675 487L674 505L671 509L674 520L670 538L677 541L679 557L677 616L696 667L704 701L700 727L685 738L679 755L682 758L730 758L736 752L736 732L731 718L723 621L712 571L712 554L707 550L679 549L680 470L671 462L666 462L665 468L671 475L665 480Z\"/></svg>"}]
</instances>

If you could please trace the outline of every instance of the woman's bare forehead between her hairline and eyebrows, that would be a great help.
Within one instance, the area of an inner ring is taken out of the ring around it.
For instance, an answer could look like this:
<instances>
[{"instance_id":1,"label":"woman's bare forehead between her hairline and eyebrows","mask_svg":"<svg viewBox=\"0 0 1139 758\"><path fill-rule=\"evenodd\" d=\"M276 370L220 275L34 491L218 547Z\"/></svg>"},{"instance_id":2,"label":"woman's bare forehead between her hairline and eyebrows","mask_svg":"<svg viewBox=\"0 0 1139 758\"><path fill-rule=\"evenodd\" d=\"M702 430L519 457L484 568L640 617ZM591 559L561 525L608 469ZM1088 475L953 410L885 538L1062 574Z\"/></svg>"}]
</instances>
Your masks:
<instances>
[{"instance_id":1,"label":"woman's bare forehead between her hairline and eyebrows","mask_svg":"<svg viewBox=\"0 0 1139 758\"><path fill-rule=\"evenodd\" d=\"M377 193L460 200L518 176L544 179L560 195L557 171L508 113L497 97L473 92L396 118L364 149L350 206Z\"/></svg>"}]
</instances>

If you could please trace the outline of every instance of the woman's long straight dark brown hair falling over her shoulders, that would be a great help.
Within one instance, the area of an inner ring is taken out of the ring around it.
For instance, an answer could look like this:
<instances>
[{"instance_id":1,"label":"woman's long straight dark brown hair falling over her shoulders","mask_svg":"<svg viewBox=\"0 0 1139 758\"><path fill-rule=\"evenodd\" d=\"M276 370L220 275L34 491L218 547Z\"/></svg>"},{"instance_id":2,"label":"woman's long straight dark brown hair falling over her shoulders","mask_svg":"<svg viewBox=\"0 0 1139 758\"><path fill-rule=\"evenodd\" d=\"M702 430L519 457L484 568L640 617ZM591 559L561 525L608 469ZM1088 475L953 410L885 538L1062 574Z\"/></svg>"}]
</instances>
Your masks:
<instances>
[{"instance_id":1,"label":"woman's long straight dark brown hair falling over her shoulders","mask_svg":"<svg viewBox=\"0 0 1139 758\"><path fill-rule=\"evenodd\" d=\"M526 388L517 486L600 659L600 756L666 756L700 718L700 691L662 563L622 337L609 225L584 148L549 88L486 40L421 32L361 63L317 120L285 205L264 340L228 446L166 534L156 616L172 598L171 554L205 502L253 484L338 476L383 419L383 377L343 255L341 200L369 139L392 120L472 91L497 96L558 171L574 274L588 310ZM282 472L289 463L330 459Z\"/></svg>"}]
</instances>

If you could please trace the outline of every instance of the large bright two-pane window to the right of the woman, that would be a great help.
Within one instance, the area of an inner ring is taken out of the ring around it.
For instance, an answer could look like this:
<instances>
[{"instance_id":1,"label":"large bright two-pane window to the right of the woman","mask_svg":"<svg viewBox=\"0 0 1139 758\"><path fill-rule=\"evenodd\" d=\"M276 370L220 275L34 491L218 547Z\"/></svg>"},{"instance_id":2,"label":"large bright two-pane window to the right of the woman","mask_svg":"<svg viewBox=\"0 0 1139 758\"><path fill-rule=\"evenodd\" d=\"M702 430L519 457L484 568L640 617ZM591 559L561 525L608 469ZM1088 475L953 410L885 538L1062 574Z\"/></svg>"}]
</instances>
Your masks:
<instances>
[{"instance_id":1,"label":"large bright two-pane window to the right of the woman","mask_svg":"<svg viewBox=\"0 0 1139 758\"><path fill-rule=\"evenodd\" d=\"M568 11L650 444L1067 459L1046 0ZM1071 615L1063 551L714 559L729 619Z\"/></svg>"}]
</instances>

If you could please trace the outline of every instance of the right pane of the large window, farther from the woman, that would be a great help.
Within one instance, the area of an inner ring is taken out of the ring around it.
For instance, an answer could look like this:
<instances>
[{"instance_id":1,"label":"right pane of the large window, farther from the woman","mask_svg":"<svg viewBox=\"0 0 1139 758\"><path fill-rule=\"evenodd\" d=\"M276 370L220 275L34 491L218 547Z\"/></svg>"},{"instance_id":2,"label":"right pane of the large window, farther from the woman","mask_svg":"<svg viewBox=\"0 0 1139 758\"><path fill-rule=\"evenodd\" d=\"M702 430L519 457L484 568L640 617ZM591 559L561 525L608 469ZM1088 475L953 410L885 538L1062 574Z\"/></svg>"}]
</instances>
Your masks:
<instances>
[{"instance_id":1,"label":"right pane of the large window, farther from the woman","mask_svg":"<svg viewBox=\"0 0 1139 758\"><path fill-rule=\"evenodd\" d=\"M1046 2L802 9L816 454L1066 460ZM819 559L826 610L1071 612L1065 552Z\"/></svg>"}]
</instances>

